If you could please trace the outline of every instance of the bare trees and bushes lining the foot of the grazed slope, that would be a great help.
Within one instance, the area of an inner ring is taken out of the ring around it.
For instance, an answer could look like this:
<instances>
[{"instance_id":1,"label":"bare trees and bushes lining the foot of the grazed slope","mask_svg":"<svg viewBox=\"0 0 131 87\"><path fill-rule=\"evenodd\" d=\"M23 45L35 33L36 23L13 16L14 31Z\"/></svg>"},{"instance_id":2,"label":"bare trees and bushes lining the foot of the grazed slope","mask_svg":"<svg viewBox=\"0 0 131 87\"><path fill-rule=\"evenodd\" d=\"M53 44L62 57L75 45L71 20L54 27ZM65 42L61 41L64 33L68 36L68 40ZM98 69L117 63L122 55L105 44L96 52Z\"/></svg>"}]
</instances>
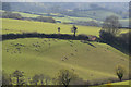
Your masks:
<instances>
[{"instance_id":1,"label":"bare trees and bushes lining the foot of the grazed slope","mask_svg":"<svg viewBox=\"0 0 131 87\"><path fill-rule=\"evenodd\" d=\"M122 77L126 75L126 69L122 65L118 65L115 71L119 80L122 80ZM116 79L115 79L116 80ZM83 80L75 74L74 70L62 69L55 75L55 77L49 77L44 74L35 74L32 77L26 77L25 73L19 70L15 70L11 74L2 72L2 87L7 86L38 86L38 85L62 85L62 87L69 87L69 85L85 85L85 86L96 86L106 84L108 80L102 83L91 83L90 80ZM110 83L114 82L110 80Z\"/></svg>"}]
</instances>

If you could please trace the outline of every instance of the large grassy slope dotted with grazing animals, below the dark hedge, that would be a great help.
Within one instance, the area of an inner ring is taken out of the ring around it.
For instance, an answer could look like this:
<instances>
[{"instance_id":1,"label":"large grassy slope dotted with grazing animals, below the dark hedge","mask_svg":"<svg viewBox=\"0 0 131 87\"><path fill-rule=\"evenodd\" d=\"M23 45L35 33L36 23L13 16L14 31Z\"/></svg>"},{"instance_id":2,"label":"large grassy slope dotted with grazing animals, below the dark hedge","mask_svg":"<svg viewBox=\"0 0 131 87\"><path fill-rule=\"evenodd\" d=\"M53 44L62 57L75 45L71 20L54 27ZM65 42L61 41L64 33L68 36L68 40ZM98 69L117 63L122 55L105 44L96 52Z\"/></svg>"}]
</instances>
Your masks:
<instances>
[{"instance_id":1,"label":"large grassy slope dotted with grazing animals, below the dark hedge","mask_svg":"<svg viewBox=\"0 0 131 87\"><path fill-rule=\"evenodd\" d=\"M93 80L117 78L118 64L128 71L128 55L98 42L80 40L25 38L2 42L2 66L7 73L25 72L26 77L45 74L53 77L60 69L74 70L82 78Z\"/></svg>"}]
</instances>

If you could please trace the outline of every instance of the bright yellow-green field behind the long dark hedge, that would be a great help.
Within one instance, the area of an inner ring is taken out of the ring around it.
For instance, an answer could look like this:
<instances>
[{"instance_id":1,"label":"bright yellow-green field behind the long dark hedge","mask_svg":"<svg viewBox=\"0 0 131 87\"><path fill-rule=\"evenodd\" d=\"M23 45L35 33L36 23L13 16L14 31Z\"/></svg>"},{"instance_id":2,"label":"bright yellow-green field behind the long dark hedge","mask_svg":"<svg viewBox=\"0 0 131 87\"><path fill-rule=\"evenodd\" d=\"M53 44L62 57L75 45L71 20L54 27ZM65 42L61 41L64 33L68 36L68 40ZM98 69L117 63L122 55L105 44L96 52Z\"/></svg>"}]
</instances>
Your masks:
<instances>
[{"instance_id":1,"label":"bright yellow-green field behind the long dark hedge","mask_svg":"<svg viewBox=\"0 0 131 87\"><path fill-rule=\"evenodd\" d=\"M31 33L31 32L57 34L58 27L61 28L61 34L72 34L71 33L72 25L2 18L2 34ZM99 27L91 26L76 26L76 27L78 27L76 34L98 36L100 30Z\"/></svg>"}]
</instances>

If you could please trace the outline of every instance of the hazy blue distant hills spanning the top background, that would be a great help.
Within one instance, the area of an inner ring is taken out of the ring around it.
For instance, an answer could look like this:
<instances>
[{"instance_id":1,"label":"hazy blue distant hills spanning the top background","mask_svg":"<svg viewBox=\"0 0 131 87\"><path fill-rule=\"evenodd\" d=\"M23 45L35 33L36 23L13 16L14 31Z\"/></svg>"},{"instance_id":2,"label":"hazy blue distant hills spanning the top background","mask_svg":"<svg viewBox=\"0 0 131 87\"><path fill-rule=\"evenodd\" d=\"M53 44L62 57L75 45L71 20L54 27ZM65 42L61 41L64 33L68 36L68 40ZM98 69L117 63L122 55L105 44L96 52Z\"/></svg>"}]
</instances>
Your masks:
<instances>
[{"instance_id":1,"label":"hazy blue distant hills spanning the top background","mask_svg":"<svg viewBox=\"0 0 131 87\"><path fill-rule=\"evenodd\" d=\"M29 13L44 16L51 13L60 14L57 16L58 21L66 22L67 16L71 17L87 17L97 21L98 24L110 15L117 15L123 27L129 26L129 3L128 2L10 2L3 3L3 10L17 11L22 13ZM46 14L44 14L46 13ZM33 16L27 16L33 17ZM64 18L64 21L63 21ZM81 20L83 21L83 20ZM87 20L88 21L88 20ZM73 22L70 20L70 22ZM85 21L84 21L85 22Z\"/></svg>"}]
</instances>

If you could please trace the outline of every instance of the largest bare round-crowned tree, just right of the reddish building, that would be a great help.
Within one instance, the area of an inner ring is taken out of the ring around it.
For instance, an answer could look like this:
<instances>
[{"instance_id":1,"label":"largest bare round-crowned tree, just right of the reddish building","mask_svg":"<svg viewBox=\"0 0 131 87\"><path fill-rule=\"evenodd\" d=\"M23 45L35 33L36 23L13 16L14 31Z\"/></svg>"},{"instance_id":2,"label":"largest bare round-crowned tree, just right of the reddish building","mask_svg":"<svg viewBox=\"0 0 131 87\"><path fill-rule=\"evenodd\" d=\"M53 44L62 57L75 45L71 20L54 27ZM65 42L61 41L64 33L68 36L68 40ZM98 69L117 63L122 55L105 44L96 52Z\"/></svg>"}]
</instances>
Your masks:
<instances>
[{"instance_id":1,"label":"largest bare round-crowned tree, just right of the reddish building","mask_svg":"<svg viewBox=\"0 0 131 87\"><path fill-rule=\"evenodd\" d=\"M119 33L119 27L121 27L119 18L111 15L104 21L99 37L105 41L114 42L112 40L115 40L115 37Z\"/></svg>"}]
</instances>

